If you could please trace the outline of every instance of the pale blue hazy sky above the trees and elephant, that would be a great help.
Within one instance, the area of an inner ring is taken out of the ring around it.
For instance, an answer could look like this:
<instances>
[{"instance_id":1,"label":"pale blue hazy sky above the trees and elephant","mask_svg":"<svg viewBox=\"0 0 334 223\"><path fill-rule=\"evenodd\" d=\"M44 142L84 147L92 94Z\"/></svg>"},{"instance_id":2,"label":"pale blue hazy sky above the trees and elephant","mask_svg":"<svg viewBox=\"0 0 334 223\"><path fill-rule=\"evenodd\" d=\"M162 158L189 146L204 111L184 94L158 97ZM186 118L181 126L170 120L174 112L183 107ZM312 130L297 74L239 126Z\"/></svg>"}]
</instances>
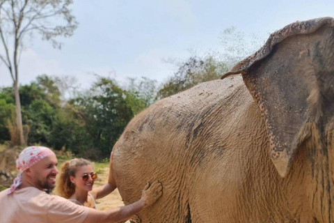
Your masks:
<instances>
[{"instance_id":1,"label":"pale blue hazy sky above the trees and elephant","mask_svg":"<svg viewBox=\"0 0 334 223\"><path fill-rule=\"evenodd\" d=\"M334 17L333 0L74 0L71 8L79 27L61 39L61 50L40 36L26 41L19 84L42 74L74 76L85 89L95 81L94 73L121 84L127 77L164 82L176 69L166 59L221 51L221 33L231 26L267 39L297 20ZM12 84L0 63L0 87Z\"/></svg>"}]
</instances>

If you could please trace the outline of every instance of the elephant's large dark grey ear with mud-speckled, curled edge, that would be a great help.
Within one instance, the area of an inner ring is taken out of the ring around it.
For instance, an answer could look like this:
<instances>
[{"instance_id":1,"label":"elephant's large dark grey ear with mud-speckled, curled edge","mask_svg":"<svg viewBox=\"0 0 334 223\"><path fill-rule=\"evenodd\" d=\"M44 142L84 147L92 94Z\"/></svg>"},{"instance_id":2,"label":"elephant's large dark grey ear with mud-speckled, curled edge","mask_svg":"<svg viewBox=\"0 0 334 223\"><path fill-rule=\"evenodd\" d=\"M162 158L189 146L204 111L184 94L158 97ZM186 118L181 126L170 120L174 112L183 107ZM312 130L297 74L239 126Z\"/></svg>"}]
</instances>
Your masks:
<instances>
[{"instance_id":1,"label":"elephant's large dark grey ear with mud-speckled, curled edge","mask_svg":"<svg viewBox=\"0 0 334 223\"><path fill-rule=\"evenodd\" d=\"M265 118L271 160L282 177L321 116L320 80L334 75L333 26L331 17L289 24L222 77L241 73Z\"/></svg>"}]
</instances>

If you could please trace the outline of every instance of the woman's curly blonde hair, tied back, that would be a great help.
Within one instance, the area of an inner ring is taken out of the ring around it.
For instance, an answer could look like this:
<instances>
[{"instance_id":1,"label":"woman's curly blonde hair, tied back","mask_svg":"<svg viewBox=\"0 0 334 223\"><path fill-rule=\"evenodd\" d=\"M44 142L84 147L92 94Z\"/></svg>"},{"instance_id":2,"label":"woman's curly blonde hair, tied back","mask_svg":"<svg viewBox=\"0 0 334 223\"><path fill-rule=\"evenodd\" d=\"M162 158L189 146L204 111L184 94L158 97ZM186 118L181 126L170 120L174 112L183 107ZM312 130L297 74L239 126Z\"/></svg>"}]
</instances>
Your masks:
<instances>
[{"instance_id":1,"label":"woman's curly blonde hair, tied back","mask_svg":"<svg viewBox=\"0 0 334 223\"><path fill-rule=\"evenodd\" d=\"M75 185L71 182L70 176L75 177L78 167L92 165L88 160L79 158L66 161L61 165L61 174L56 182L56 194L69 199L75 192Z\"/></svg>"}]
</instances>

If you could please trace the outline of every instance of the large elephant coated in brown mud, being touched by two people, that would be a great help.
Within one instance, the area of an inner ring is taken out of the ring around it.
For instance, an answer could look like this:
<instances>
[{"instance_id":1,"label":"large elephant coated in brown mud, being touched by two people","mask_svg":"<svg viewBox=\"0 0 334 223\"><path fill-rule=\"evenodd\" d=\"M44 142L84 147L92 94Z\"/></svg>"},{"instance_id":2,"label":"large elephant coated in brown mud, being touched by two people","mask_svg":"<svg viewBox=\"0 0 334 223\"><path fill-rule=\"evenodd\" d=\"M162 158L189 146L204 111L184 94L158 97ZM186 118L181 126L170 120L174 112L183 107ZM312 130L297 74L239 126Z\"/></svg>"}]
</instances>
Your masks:
<instances>
[{"instance_id":1,"label":"large elephant coated in brown mud, being touched by two people","mask_svg":"<svg viewBox=\"0 0 334 223\"><path fill-rule=\"evenodd\" d=\"M155 102L113 147L132 222L334 222L334 19L294 22L221 79Z\"/></svg>"}]
</instances>

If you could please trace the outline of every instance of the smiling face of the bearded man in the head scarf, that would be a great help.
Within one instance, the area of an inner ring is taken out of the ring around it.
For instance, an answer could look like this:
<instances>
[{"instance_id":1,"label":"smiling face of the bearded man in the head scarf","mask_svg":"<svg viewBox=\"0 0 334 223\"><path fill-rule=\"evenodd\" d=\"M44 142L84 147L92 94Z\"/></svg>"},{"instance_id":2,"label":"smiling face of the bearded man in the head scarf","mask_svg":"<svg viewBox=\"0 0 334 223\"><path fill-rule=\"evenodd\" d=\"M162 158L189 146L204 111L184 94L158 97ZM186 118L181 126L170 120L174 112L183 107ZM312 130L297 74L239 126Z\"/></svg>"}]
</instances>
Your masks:
<instances>
[{"instance_id":1,"label":"smiling face of the bearded man in the head scarf","mask_svg":"<svg viewBox=\"0 0 334 223\"><path fill-rule=\"evenodd\" d=\"M33 165L33 167L30 167L31 178L35 187L40 190L50 190L55 187L56 175L58 174L57 164L57 157L52 154L44 157Z\"/></svg>"}]
</instances>

